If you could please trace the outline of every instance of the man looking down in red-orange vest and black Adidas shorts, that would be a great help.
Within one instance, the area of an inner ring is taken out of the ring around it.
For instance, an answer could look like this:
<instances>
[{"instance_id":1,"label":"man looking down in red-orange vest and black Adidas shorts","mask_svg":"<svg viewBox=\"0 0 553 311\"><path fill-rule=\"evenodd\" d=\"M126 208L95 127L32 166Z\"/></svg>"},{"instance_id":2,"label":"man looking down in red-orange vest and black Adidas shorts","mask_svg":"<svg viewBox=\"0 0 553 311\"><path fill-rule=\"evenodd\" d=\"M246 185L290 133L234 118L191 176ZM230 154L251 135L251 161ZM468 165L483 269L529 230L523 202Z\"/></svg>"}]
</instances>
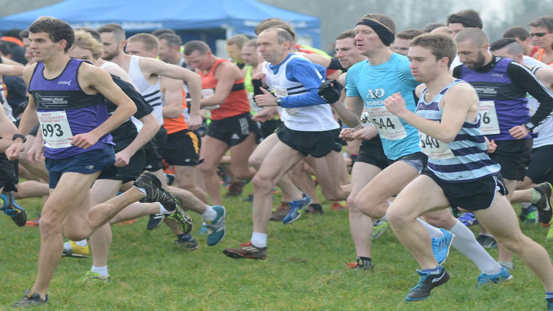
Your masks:
<instances>
[{"instance_id":1,"label":"man looking down in red-orange vest and black Adidas shorts","mask_svg":"<svg viewBox=\"0 0 553 311\"><path fill-rule=\"evenodd\" d=\"M255 170L248 167L256 140L260 138L257 123L252 121L242 71L226 59L211 53L207 44L190 41L184 45L186 62L202 77L201 106L219 105L211 110L211 123L202 141L200 171L213 204L222 204L217 166L231 149L234 178L252 179Z\"/></svg>"}]
</instances>

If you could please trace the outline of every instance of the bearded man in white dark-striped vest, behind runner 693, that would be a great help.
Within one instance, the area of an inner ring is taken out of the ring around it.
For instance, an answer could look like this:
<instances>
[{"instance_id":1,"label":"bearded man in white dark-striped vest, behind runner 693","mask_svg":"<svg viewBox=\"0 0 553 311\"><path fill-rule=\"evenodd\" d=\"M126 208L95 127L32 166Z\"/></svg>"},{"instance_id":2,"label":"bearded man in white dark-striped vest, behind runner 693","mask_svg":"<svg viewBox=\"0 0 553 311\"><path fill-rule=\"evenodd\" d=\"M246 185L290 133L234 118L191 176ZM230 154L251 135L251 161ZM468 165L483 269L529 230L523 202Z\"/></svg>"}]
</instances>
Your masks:
<instances>
[{"instance_id":1,"label":"bearded man in white dark-striped vest, behind runner 693","mask_svg":"<svg viewBox=\"0 0 553 311\"><path fill-rule=\"evenodd\" d=\"M141 37L150 38L149 42L156 42L159 44L153 35L137 34L130 37L127 42L127 40L124 39L124 30L117 24L103 25L98 28L98 32L102 38L102 45L104 48L103 59L111 59L113 63L121 66L121 68L129 73L129 77L138 87L140 94L142 94L144 99L154 108L154 115L158 118L158 122L163 123L161 99L158 98L160 97L158 96L160 92L159 81L161 76L165 76L171 79L185 80L188 83L191 93L191 114L188 126L190 129L196 129L201 125L201 117L197 112L201 92L199 76L188 69L166 64L160 60L124 53L123 47L125 45L128 45L129 50L144 48L144 43L139 40ZM134 124L137 128L142 126L140 122L134 122ZM165 183L165 175L163 174L163 170L161 170L161 151L163 150L165 141L166 129L162 126L160 131L156 133L154 139L144 146L144 151L147 154L146 168L152 169L154 171L153 173L161 179L162 183ZM216 245L225 237L226 210L223 206L198 205L197 201L199 200L195 198L190 191L171 186L166 186L166 188L173 193L179 194L187 208L197 212L206 220L208 224L207 245ZM178 240L176 241L178 245L189 250L195 250L198 247L194 237L187 232L183 232L174 221L165 219L164 222L171 228L174 234L178 236Z\"/></svg>"}]
</instances>

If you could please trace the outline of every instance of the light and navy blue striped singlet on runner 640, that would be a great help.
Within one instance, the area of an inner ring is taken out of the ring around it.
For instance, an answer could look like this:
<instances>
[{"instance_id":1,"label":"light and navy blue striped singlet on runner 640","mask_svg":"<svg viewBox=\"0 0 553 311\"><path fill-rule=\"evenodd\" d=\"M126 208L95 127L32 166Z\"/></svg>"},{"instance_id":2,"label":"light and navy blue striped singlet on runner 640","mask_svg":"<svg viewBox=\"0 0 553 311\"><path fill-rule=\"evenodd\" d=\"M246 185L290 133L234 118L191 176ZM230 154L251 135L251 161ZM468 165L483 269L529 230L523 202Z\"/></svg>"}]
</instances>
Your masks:
<instances>
[{"instance_id":1,"label":"light and navy blue striped singlet on runner 640","mask_svg":"<svg viewBox=\"0 0 553 311\"><path fill-rule=\"evenodd\" d=\"M424 100L426 88L422 90L416 114L427 120L440 122L442 108L440 101L453 85L467 83L457 79L441 90L430 102ZM441 142L419 131L421 151L428 155L427 168L446 183L461 183L499 174L501 167L488 157L488 145L480 131L480 115L475 122L463 122L455 139Z\"/></svg>"}]
</instances>

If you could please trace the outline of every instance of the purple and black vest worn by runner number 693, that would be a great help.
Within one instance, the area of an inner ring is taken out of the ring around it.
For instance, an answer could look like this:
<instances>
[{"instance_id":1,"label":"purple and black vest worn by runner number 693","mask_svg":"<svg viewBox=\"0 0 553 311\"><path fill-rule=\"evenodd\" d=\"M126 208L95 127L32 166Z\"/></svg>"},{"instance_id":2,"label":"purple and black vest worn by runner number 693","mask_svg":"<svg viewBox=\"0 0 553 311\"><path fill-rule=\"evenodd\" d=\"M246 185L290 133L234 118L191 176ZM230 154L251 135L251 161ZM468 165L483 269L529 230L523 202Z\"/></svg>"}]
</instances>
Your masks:
<instances>
[{"instance_id":1,"label":"purple and black vest worn by runner number 693","mask_svg":"<svg viewBox=\"0 0 553 311\"><path fill-rule=\"evenodd\" d=\"M86 94L79 85L77 76L82 60L71 59L67 62L64 71L54 79L44 77L44 63L36 64L29 83L29 93L33 96L36 112L58 112L64 111L67 122L73 136L88 133L100 126L108 118L106 100L102 94ZM41 126L44 133L60 133L59 129ZM50 131L50 132L49 132ZM45 144L44 157L50 159L61 159L83 152L101 149L104 143L113 144L112 137L108 133L98 139L92 147L82 149L75 146L64 148L50 148Z\"/></svg>"}]
</instances>

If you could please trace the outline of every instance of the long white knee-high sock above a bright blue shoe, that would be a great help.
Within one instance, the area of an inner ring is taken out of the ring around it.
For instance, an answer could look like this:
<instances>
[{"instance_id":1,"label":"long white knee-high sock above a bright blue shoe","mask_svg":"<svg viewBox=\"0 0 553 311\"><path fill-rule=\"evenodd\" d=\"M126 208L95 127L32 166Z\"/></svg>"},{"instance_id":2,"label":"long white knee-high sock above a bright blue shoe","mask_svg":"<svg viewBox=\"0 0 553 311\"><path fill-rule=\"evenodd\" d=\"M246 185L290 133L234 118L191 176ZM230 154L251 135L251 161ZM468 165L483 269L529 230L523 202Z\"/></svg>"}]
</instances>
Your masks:
<instances>
[{"instance_id":1,"label":"long white knee-high sock above a bright blue shoe","mask_svg":"<svg viewBox=\"0 0 553 311\"><path fill-rule=\"evenodd\" d=\"M455 226L449 230L455 235L451 246L474 262L482 273L497 274L501 271L501 266L493 259L484 247L476 241L476 237L467 226L457 220Z\"/></svg>"}]
</instances>

